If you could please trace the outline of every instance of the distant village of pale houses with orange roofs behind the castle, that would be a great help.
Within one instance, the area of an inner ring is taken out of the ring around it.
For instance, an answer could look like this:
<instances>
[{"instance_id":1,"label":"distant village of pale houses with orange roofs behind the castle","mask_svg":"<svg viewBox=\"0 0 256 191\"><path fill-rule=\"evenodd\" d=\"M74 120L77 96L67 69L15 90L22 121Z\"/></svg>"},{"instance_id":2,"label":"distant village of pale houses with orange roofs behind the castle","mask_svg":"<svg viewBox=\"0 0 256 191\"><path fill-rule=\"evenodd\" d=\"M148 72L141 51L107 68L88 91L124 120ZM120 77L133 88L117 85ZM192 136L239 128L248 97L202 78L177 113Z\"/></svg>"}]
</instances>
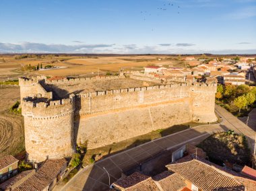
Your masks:
<instances>
[{"instance_id":1,"label":"distant village of pale houses with orange roofs behind the castle","mask_svg":"<svg viewBox=\"0 0 256 191\"><path fill-rule=\"evenodd\" d=\"M251 81L250 69L256 65L253 57L235 57L234 59L195 59L195 56L187 56L183 59L185 67L173 67L170 65L152 65L144 68L143 73L154 75L162 81L187 81L220 83L223 85L241 85ZM255 71L254 71L255 73ZM253 82L252 82L253 83Z\"/></svg>"}]
</instances>

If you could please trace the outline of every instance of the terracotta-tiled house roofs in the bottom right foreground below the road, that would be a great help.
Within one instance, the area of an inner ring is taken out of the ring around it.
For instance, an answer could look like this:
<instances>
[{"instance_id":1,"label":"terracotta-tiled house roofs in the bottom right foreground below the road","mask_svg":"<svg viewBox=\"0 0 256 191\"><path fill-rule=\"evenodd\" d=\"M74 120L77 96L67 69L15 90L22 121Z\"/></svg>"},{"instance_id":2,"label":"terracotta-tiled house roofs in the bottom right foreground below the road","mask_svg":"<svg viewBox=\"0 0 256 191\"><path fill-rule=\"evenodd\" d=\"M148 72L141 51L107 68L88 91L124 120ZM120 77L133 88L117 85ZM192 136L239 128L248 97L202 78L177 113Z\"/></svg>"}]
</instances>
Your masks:
<instances>
[{"instance_id":1,"label":"terracotta-tiled house roofs in the bottom right foreground below the road","mask_svg":"<svg viewBox=\"0 0 256 191\"><path fill-rule=\"evenodd\" d=\"M166 165L168 171L150 177L139 172L125 176L111 185L115 190L161 190L161 191L254 191L256 179L238 174L202 159L199 155L187 155Z\"/></svg>"}]
</instances>

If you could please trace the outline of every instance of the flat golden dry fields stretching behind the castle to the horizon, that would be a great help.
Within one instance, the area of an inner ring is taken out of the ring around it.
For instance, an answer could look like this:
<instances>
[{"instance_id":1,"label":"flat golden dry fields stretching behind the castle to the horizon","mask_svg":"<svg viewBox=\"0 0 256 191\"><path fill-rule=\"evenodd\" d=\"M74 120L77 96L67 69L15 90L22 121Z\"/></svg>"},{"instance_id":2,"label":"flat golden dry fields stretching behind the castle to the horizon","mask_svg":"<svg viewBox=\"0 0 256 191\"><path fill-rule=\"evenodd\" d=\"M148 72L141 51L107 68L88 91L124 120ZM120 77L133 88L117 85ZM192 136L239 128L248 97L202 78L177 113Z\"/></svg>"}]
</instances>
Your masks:
<instances>
[{"instance_id":1,"label":"flat golden dry fields stretching behind the castle to the horizon","mask_svg":"<svg viewBox=\"0 0 256 191\"><path fill-rule=\"evenodd\" d=\"M161 59L160 61L158 59ZM0 63L0 78L19 77L22 75L67 76L92 73L117 73L121 69L143 69L147 65L183 66L181 61L170 61L174 56L46 56L42 59L28 58L15 60L14 56L0 56L5 59ZM48 71L21 71L24 65L55 65L67 67Z\"/></svg>"}]
</instances>

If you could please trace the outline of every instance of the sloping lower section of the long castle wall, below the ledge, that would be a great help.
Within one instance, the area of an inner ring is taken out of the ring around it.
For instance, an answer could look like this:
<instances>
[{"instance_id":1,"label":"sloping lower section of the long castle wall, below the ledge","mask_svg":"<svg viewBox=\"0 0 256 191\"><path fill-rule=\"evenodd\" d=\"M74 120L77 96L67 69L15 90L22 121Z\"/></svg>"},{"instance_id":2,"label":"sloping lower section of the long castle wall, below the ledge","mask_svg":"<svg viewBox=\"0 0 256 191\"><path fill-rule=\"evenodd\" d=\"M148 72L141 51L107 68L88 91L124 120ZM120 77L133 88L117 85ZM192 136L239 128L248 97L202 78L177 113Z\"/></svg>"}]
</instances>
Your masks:
<instances>
[{"instance_id":1,"label":"sloping lower section of the long castle wall, below the ledge","mask_svg":"<svg viewBox=\"0 0 256 191\"><path fill-rule=\"evenodd\" d=\"M189 122L192 120L189 99L180 101L82 117L75 121L77 144L88 141L88 149L94 149Z\"/></svg>"}]
</instances>

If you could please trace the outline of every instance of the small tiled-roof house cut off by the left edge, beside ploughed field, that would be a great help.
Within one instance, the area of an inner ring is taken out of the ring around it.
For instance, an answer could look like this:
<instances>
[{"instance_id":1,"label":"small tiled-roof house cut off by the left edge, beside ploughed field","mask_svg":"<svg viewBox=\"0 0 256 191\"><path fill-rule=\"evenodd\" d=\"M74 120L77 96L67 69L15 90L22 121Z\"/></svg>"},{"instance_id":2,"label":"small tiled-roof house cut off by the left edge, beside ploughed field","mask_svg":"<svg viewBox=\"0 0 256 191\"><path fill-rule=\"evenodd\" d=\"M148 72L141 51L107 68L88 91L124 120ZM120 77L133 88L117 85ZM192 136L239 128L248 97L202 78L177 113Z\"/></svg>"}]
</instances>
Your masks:
<instances>
[{"instance_id":1,"label":"small tiled-roof house cut off by the left edge, beside ploughed field","mask_svg":"<svg viewBox=\"0 0 256 191\"><path fill-rule=\"evenodd\" d=\"M18 173L18 159L11 155L0 158L0 182L3 182Z\"/></svg>"}]
</instances>

